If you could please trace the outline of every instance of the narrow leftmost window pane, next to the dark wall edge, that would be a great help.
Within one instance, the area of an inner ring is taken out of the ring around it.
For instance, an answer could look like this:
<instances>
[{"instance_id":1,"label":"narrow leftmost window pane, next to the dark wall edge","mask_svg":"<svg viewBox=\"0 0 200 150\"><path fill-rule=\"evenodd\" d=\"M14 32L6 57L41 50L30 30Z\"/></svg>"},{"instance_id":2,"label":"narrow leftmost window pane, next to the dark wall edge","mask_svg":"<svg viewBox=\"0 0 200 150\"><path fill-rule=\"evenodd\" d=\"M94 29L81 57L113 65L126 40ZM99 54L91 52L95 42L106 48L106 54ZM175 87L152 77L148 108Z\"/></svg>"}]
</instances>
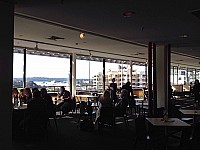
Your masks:
<instances>
[{"instance_id":1,"label":"narrow leftmost window pane, next to the dark wall edge","mask_svg":"<svg viewBox=\"0 0 200 150\"><path fill-rule=\"evenodd\" d=\"M13 87L23 87L23 67L24 55L20 53L13 54Z\"/></svg>"}]
</instances>

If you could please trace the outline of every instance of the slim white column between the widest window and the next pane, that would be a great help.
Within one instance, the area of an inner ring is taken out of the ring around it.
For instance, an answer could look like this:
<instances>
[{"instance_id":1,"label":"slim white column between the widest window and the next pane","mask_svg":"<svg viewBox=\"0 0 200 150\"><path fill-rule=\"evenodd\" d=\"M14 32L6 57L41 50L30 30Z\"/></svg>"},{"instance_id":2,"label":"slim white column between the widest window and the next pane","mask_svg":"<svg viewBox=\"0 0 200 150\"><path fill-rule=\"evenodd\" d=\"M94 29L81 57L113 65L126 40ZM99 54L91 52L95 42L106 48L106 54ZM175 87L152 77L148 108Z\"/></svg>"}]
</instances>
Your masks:
<instances>
[{"instance_id":1,"label":"slim white column between the widest window and the next pane","mask_svg":"<svg viewBox=\"0 0 200 150\"><path fill-rule=\"evenodd\" d=\"M72 54L72 96L76 95L76 54Z\"/></svg>"}]
</instances>

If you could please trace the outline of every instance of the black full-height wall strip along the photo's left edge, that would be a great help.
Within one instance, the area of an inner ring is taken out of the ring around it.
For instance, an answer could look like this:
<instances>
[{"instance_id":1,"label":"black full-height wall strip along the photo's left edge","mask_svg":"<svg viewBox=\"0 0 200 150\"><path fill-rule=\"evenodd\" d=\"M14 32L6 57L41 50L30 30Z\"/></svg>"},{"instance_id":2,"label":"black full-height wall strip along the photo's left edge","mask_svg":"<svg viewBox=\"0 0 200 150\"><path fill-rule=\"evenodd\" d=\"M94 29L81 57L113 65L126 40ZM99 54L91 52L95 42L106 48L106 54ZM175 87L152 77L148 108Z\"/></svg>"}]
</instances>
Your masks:
<instances>
[{"instance_id":1,"label":"black full-height wall strip along the photo's left edge","mask_svg":"<svg viewBox=\"0 0 200 150\"><path fill-rule=\"evenodd\" d=\"M14 4L0 1L0 147L12 149Z\"/></svg>"}]
</instances>

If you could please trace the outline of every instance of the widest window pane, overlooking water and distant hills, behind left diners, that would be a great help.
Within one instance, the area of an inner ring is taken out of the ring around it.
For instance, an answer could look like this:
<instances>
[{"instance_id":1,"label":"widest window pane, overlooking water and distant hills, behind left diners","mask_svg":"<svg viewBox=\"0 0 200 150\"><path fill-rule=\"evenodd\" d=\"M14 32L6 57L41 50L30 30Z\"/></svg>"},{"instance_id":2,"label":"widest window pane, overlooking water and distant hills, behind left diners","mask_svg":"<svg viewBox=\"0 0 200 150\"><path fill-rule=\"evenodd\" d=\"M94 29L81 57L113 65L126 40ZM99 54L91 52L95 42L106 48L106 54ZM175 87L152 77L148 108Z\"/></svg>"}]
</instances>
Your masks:
<instances>
[{"instance_id":1,"label":"widest window pane, overlooking water and distant hills, behind left diners","mask_svg":"<svg viewBox=\"0 0 200 150\"><path fill-rule=\"evenodd\" d=\"M48 91L58 91L60 86L69 87L69 58L27 54L26 86L46 87Z\"/></svg>"}]
</instances>

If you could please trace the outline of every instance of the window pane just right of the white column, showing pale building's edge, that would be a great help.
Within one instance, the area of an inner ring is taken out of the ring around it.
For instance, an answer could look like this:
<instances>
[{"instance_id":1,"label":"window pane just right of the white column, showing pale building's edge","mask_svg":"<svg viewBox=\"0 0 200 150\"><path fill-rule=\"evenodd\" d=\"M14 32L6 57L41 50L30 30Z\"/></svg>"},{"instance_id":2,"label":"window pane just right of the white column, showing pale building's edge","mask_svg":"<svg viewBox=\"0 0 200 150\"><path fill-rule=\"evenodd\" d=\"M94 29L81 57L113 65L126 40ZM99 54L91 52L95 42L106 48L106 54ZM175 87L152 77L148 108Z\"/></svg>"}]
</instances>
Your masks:
<instances>
[{"instance_id":1,"label":"window pane just right of the white column, showing pale building's edge","mask_svg":"<svg viewBox=\"0 0 200 150\"><path fill-rule=\"evenodd\" d=\"M103 62L100 58L77 56L76 91L77 94L103 91ZM83 60L81 60L83 59ZM98 61L99 60L99 61Z\"/></svg>"}]
</instances>

